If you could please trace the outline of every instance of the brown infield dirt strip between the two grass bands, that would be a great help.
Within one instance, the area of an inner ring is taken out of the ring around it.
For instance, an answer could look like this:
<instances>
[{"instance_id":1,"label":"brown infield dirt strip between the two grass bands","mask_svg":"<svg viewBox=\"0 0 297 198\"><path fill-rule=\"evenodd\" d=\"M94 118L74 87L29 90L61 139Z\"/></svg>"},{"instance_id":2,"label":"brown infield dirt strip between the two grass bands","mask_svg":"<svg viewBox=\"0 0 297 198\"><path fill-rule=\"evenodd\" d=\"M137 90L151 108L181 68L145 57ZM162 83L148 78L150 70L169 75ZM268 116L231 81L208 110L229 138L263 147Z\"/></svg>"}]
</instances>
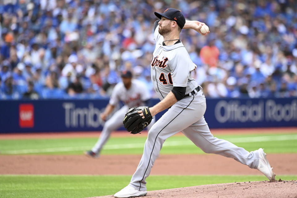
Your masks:
<instances>
[{"instance_id":1,"label":"brown infield dirt strip between the two grass bands","mask_svg":"<svg viewBox=\"0 0 297 198\"><path fill-rule=\"evenodd\" d=\"M119 174L132 175L141 155L0 155L0 174ZM297 154L269 154L276 174L297 174ZM120 165L120 168L119 168ZM160 155L151 174L262 175L256 169L215 154ZM284 178L285 179L285 178Z\"/></svg>"}]
</instances>

